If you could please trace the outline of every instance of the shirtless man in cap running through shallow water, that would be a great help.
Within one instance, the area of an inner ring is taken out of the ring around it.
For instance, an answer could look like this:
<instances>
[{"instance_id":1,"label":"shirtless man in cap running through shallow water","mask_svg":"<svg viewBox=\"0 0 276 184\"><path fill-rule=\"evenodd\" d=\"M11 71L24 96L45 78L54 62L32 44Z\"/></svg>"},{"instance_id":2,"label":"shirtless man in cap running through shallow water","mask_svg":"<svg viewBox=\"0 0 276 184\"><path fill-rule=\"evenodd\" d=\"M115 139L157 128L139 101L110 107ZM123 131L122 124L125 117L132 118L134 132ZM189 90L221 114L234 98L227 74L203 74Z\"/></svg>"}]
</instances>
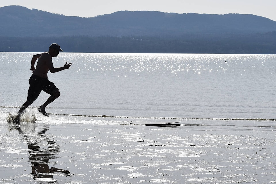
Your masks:
<instances>
[{"instance_id":1,"label":"shirtless man in cap running through shallow water","mask_svg":"<svg viewBox=\"0 0 276 184\"><path fill-rule=\"evenodd\" d=\"M41 91L45 91L51 96L47 99L47 101L44 104L42 104L38 108L38 111L45 116L49 116L49 114L45 112L45 107L49 105L51 102L53 102L55 99L57 99L57 97L60 96L60 91L54 85L54 83L48 80L47 73L49 70L51 73L59 72L70 68L70 66L72 65L72 63L67 64L66 62L63 67L54 68L52 57L57 57L60 51L63 51L60 48L60 46L57 45L56 43L53 43L50 45L48 52L36 54L32 57L32 60L31 60L32 66L30 70L33 71L33 74L29 79L30 87L28 90L28 97L27 97L27 101L21 106L20 110L16 115L16 118L15 118L16 122L20 121L21 114L26 110L28 106L30 106L34 102L34 100L37 99ZM34 64L37 59L38 59L37 68L35 68Z\"/></svg>"}]
</instances>

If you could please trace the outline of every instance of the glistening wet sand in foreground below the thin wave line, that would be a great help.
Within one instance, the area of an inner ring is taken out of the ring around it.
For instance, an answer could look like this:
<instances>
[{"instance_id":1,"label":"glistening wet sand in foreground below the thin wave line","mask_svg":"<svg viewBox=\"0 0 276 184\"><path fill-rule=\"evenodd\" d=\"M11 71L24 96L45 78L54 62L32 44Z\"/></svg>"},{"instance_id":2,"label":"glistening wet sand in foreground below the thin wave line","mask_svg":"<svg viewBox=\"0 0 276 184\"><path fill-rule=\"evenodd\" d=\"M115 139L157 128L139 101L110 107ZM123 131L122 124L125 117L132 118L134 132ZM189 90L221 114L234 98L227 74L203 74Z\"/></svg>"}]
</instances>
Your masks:
<instances>
[{"instance_id":1,"label":"glistening wet sand in foreground below the thin wave line","mask_svg":"<svg viewBox=\"0 0 276 184\"><path fill-rule=\"evenodd\" d=\"M38 116L17 126L5 116L2 184L276 183L273 121Z\"/></svg>"}]
</instances>

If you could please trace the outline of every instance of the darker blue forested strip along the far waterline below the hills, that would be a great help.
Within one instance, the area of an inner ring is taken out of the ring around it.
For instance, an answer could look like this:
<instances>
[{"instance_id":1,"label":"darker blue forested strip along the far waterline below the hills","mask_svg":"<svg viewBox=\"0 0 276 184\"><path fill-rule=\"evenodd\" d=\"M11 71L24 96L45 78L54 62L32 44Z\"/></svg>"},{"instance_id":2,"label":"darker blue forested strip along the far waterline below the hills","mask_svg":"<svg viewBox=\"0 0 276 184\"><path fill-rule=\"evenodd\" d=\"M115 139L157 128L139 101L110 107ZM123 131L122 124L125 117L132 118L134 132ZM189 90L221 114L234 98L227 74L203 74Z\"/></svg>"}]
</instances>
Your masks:
<instances>
[{"instance_id":1,"label":"darker blue forested strip along the far waterline below the hills","mask_svg":"<svg viewBox=\"0 0 276 184\"><path fill-rule=\"evenodd\" d=\"M58 43L65 52L276 54L276 31L251 35L182 37L0 37L2 52L42 52Z\"/></svg>"}]
</instances>

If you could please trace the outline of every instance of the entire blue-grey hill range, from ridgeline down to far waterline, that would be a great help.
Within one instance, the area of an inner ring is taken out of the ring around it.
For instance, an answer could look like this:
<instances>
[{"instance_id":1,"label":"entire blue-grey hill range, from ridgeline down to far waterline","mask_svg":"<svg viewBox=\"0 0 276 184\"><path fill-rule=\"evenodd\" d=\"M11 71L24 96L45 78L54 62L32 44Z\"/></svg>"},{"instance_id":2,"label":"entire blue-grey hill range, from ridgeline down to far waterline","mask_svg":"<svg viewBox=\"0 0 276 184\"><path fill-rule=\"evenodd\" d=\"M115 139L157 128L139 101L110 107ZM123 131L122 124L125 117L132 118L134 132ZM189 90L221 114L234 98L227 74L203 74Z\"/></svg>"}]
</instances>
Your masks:
<instances>
[{"instance_id":1,"label":"entire blue-grey hill range, from ridgeline down to far waterline","mask_svg":"<svg viewBox=\"0 0 276 184\"><path fill-rule=\"evenodd\" d=\"M0 51L276 54L276 22L244 14L118 11L81 18L0 8Z\"/></svg>"}]
</instances>

